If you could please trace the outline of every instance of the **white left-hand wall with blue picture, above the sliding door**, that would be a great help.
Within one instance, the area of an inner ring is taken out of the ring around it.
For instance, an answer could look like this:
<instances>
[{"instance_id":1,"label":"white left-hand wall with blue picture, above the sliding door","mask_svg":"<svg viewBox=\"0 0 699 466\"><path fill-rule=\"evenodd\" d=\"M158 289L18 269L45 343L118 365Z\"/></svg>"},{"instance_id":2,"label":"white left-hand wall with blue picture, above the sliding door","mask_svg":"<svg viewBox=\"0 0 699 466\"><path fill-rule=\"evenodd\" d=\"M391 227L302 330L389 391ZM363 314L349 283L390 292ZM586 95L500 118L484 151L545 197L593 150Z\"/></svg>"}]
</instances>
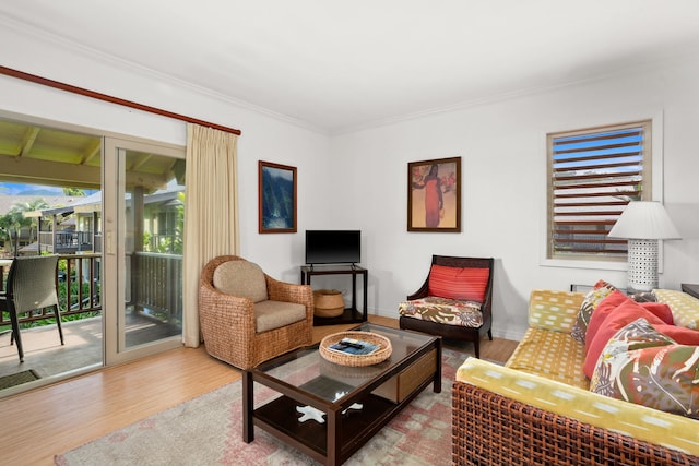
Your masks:
<instances>
[{"instance_id":1,"label":"white left-hand wall with blue picture, above the sliding door","mask_svg":"<svg viewBox=\"0 0 699 466\"><path fill-rule=\"evenodd\" d=\"M276 278L298 282L306 225L331 208L327 134L281 116L228 101L144 69L0 28L2 64L122 99L242 131L238 140L240 254ZM0 76L0 111L186 145L186 123ZM258 234L258 160L298 169L299 234Z\"/></svg>"}]
</instances>

